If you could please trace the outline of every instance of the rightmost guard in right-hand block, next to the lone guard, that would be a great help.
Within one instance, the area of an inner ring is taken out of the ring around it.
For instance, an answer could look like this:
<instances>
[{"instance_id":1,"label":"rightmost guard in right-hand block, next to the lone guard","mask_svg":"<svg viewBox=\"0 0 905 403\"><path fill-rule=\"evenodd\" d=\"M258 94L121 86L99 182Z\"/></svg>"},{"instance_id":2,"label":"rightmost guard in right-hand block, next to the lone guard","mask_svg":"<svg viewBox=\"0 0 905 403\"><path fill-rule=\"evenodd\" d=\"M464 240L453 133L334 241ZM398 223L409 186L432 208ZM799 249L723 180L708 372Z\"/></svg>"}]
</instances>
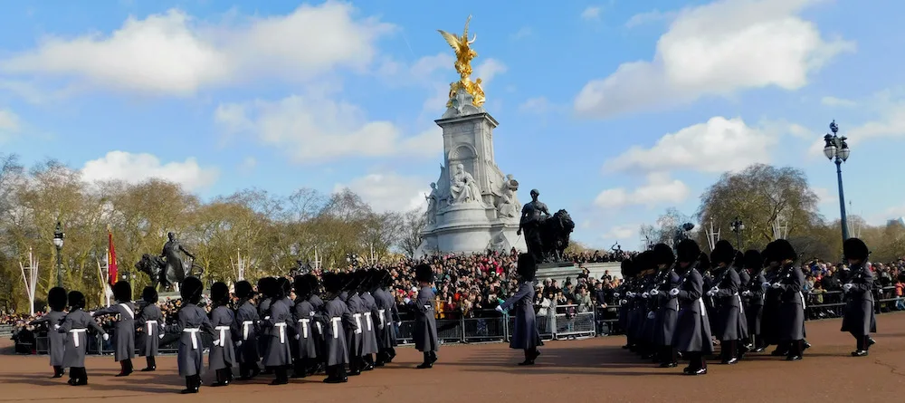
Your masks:
<instances>
[{"instance_id":1,"label":"rightmost guard in right-hand block, next to the lone guard","mask_svg":"<svg viewBox=\"0 0 905 403\"><path fill-rule=\"evenodd\" d=\"M786 345L786 360L801 360L805 351L805 296L802 294L805 273L795 266L798 254L792 244L785 239L772 244L767 260L782 267L770 285L780 293L779 341Z\"/></svg>"}]
</instances>

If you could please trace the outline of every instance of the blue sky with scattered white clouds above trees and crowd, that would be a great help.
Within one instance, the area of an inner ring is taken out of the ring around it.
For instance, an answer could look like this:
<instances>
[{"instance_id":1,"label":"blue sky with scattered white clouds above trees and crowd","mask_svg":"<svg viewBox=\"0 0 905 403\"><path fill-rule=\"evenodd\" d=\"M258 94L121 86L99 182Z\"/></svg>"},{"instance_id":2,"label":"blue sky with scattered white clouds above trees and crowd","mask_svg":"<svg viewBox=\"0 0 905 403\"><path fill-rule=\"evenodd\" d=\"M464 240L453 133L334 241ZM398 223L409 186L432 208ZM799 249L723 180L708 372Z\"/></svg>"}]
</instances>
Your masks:
<instances>
[{"instance_id":1,"label":"blue sky with scattered white clouds above trees and crowd","mask_svg":"<svg viewBox=\"0 0 905 403\"><path fill-rule=\"evenodd\" d=\"M472 14L496 163L520 202L538 188L567 209L573 239L640 247L640 225L756 162L803 169L834 219L831 120L850 213L905 216L905 3L519 5L0 0L0 153L205 199L348 187L377 211L424 206L458 79L436 30Z\"/></svg>"}]
</instances>

